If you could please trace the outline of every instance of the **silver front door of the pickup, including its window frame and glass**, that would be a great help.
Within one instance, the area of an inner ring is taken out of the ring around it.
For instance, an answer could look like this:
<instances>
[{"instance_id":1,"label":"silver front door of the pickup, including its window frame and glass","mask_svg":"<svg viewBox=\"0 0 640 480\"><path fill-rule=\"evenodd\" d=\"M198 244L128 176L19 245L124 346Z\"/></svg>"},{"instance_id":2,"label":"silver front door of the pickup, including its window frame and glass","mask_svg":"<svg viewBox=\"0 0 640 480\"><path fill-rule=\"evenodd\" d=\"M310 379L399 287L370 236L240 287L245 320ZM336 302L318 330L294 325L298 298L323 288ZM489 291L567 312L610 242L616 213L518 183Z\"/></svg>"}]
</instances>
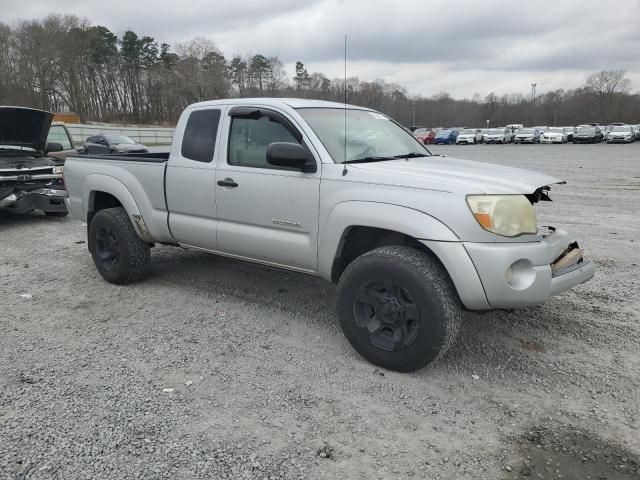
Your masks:
<instances>
[{"instance_id":1,"label":"silver front door of the pickup, including its window frame and glass","mask_svg":"<svg viewBox=\"0 0 640 480\"><path fill-rule=\"evenodd\" d=\"M315 172L267 163L273 142L309 140L275 110L236 107L225 118L216 199L221 252L305 271L317 270L320 162Z\"/></svg>"}]
</instances>

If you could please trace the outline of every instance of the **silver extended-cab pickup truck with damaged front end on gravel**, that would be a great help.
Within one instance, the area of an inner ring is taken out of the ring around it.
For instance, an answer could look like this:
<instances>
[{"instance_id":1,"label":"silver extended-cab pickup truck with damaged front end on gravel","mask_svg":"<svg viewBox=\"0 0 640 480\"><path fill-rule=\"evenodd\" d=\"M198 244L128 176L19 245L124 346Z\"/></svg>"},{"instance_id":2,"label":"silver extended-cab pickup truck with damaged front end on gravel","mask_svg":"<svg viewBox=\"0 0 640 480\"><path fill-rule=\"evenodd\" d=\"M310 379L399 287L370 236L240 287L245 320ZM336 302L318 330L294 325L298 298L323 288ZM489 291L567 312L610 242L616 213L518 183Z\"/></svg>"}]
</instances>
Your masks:
<instances>
[{"instance_id":1,"label":"silver extended-cab pickup truck with damaged front end on gravel","mask_svg":"<svg viewBox=\"0 0 640 480\"><path fill-rule=\"evenodd\" d=\"M558 179L432 155L356 106L197 103L169 154L68 157L64 178L107 281L143 278L155 243L318 275L355 350L393 370L442 355L464 309L537 305L594 275L536 222Z\"/></svg>"}]
</instances>

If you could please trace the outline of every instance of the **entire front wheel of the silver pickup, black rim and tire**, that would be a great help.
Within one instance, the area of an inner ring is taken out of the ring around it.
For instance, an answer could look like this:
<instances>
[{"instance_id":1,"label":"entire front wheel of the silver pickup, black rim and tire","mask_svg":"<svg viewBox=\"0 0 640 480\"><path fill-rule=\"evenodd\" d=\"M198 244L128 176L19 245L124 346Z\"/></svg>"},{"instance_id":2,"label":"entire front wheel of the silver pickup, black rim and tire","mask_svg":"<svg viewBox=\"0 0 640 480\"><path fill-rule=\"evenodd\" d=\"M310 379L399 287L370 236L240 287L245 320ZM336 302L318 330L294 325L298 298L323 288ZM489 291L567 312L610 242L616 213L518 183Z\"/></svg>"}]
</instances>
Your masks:
<instances>
[{"instance_id":1,"label":"entire front wheel of the silver pickup, black rim and tire","mask_svg":"<svg viewBox=\"0 0 640 480\"><path fill-rule=\"evenodd\" d=\"M440 263L418 249L387 246L355 259L338 283L340 326L366 360L411 372L453 344L462 306Z\"/></svg>"}]
</instances>

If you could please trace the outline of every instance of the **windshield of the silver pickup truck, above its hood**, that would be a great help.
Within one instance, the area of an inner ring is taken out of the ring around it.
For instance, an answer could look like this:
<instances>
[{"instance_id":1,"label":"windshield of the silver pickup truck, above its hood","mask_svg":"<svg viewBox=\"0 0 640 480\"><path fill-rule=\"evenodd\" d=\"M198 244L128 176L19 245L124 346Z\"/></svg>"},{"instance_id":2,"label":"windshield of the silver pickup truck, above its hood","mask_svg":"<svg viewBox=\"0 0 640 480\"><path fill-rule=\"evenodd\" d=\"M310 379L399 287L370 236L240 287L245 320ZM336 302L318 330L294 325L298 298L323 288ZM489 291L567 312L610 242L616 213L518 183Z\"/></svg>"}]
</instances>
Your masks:
<instances>
[{"instance_id":1,"label":"windshield of the silver pickup truck, above its hood","mask_svg":"<svg viewBox=\"0 0 640 480\"><path fill-rule=\"evenodd\" d=\"M385 115L367 110L341 108L300 108L307 121L336 163L365 158L394 157L429 151L411 133ZM346 158L345 158L346 150Z\"/></svg>"}]
</instances>

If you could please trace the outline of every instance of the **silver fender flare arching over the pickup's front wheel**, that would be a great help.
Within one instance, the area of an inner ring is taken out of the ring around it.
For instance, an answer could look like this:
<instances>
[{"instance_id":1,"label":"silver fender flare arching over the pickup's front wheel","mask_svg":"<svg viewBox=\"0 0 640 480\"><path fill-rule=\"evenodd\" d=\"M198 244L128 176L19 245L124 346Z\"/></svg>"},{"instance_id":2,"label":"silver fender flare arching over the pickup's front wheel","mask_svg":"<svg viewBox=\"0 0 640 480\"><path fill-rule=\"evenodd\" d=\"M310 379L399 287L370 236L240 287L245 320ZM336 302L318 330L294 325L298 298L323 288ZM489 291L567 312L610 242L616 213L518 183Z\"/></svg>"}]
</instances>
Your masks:
<instances>
[{"instance_id":1,"label":"silver fender flare arching over the pickup's front wheel","mask_svg":"<svg viewBox=\"0 0 640 480\"><path fill-rule=\"evenodd\" d=\"M371 201L338 203L329 212L320 230L318 273L322 278L331 280L333 262L344 233L356 226L391 230L416 240L460 241L447 225L420 210Z\"/></svg>"}]
</instances>

